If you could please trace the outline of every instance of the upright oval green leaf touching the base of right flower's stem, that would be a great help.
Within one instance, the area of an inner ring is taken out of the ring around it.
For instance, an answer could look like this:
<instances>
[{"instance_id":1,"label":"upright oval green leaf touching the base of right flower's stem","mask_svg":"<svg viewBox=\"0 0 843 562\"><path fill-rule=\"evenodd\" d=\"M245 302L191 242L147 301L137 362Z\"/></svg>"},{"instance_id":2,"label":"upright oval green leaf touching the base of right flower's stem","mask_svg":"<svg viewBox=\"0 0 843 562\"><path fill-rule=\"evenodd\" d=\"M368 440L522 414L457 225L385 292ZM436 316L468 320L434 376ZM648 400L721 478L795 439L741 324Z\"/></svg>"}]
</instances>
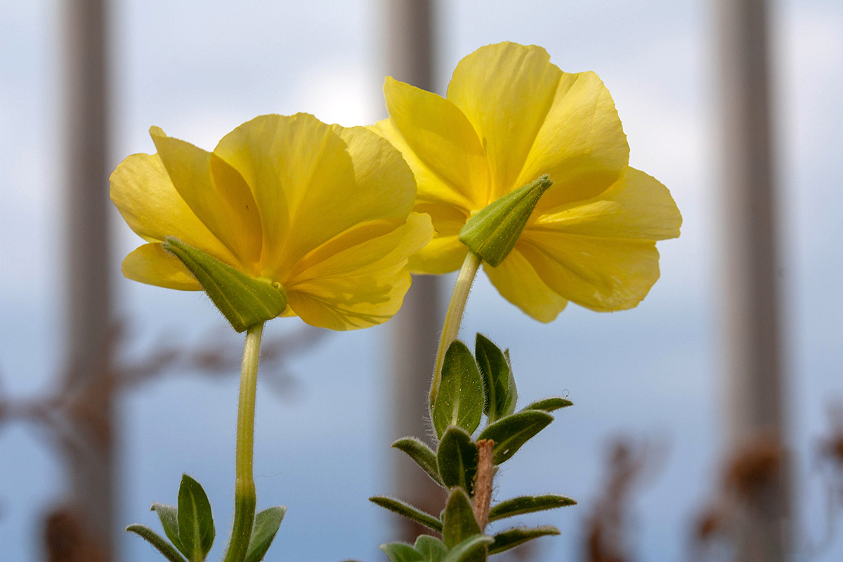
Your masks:
<instances>
[{"instance_id":1,"label":"upright oval green leaf touching the base of right flower's stem","mask_svg":"<svg viewBox=\"0 0 843 562\"><path fill-rule=\"evenodd\" d=\"M442 382L433 403L432 420L442 438L448 426L460 426L473 433L483 415L483 381L469 348L454 340L445 352Z\"/></svg>"}]
</instances>

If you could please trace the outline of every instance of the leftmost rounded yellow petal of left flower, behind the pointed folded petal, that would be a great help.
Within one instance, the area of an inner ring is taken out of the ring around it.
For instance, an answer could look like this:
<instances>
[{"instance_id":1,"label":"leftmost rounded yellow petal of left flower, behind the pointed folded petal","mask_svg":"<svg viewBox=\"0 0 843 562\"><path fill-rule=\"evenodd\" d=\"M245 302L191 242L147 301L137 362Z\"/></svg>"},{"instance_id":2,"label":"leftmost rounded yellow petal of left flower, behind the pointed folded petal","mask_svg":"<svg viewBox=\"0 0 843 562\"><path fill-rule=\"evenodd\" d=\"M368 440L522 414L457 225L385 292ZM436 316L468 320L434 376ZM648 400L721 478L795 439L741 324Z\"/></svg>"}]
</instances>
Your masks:
<instances>
[{"instance_id":1,"label":"leftmost rounded yellow petal of left flower, behind the pointed folded petal","mask_svg":"<svg viewBox=\"0 0 843 562\"><path fill-rule=\"evenodd\" d=\"M160 242L175 236L221 260L236 263L175 190L158 154L132 154L111 174L110 184L111 201L141 238Z\"/></svg>"}]
</instances>

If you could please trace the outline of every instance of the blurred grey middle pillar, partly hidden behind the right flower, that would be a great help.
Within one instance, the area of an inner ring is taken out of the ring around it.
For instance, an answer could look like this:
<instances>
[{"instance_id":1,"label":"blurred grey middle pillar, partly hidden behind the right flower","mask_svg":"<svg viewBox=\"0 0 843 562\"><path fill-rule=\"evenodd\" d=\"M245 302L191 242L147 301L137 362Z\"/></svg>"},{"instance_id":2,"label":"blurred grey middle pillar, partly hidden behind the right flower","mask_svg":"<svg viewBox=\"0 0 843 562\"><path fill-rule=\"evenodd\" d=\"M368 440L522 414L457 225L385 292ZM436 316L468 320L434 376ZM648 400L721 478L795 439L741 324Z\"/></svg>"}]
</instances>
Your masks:
<instances>
[{"instance_id":1,"label":"blurred grey middle pillar, partly hidden behind the right flower","mask_svg":"<svg viewBox=\"0 0 843 562\"><path fill-rule=\"evenodd\" d=\"M432 0L384 0L386 9L387 73L397 80L428 91L433 89ZM439 279L414 276L404 305L392 324L392 436L429 434L427 391L443 315L439 313ZM414 506L438 514L444 506L443 490L403 453L393 452L392 485L395 495ZM400 538L413 541L429 531L404 517L397 517Z\"/></svg>"}]
</instances>

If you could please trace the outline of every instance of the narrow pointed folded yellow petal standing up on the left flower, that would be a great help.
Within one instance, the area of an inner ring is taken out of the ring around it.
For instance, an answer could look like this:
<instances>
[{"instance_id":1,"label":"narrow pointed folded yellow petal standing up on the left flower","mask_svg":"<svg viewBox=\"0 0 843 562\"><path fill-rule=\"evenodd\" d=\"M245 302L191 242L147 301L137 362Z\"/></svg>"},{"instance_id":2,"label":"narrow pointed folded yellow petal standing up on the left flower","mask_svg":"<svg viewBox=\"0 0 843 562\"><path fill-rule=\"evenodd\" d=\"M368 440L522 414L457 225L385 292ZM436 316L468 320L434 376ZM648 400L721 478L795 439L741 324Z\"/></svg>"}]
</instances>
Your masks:
<instances>
[{"instance_id":1,"label":"narrow pointed folded yellow petal standing up on the left flower","mask_svg":"<svg viewBox=\"0 0 843 562\"><path fill-rule=\"evenodd\" d=\"M260 259L260 216L255 199L236 170L212 153L149 129L175 189L251 273ZM234 265L234 264L232 264Z\"/></svg>"}]
</instances>

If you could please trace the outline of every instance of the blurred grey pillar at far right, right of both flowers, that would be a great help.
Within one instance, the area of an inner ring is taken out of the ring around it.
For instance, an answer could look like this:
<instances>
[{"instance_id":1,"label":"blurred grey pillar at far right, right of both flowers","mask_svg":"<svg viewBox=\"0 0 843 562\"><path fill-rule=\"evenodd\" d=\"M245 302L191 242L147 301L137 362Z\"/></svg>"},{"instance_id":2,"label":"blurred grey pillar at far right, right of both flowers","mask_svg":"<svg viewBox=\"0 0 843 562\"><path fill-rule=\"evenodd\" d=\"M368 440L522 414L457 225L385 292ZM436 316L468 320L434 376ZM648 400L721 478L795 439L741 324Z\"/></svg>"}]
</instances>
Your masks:
<instances>
[{"instance_id":1,"label":"blurred grey pillar at far right, right of both flowers","mask_svg":"<svg viewBox=\"0 0 843 562\"><path fill-rule=\"evenodd\" d=\"M718 0L717 10L729 440L737 453L765 443L784 451L767 3ZM741 508L740 562L790 558L787 466L779 458Z\"/></svg>"}]
</instances>

